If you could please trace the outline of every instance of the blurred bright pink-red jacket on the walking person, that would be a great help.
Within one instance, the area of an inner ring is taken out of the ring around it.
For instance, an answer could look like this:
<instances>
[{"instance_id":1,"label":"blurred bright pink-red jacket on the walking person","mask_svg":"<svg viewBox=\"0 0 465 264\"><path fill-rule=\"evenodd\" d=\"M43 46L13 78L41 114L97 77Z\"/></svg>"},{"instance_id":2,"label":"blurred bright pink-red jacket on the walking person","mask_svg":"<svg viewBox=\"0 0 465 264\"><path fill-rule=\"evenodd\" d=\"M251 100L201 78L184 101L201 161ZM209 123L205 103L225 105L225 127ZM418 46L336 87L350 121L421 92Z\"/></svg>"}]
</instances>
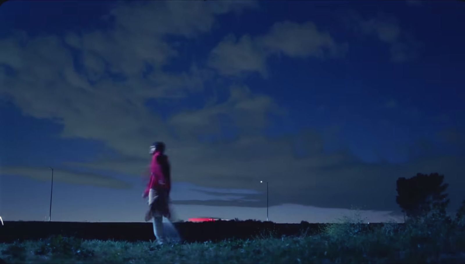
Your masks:
<instances>
[{"instance_id":1,"label":"blurred bright pink-red jacket on the walking person","mask_svg":"<svg viewBox=\"0 0 465 264\"><path fill-rule=\"evenodd\" d=\"M150 189L165 189L171 190L171 175L170 164L166 155L155 152L150 163L150 181L144 191L144 196L147 196Z\"/></svg>"}]
</instances>

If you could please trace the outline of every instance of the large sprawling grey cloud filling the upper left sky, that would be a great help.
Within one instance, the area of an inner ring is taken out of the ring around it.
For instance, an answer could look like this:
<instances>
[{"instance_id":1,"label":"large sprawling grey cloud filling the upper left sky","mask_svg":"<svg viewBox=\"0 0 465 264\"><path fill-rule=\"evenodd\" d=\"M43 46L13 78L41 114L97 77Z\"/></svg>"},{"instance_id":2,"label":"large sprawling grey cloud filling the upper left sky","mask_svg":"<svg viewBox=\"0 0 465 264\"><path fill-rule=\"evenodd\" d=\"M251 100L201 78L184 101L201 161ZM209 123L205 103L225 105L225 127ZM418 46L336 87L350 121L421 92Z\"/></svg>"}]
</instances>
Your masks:
<instances>
[{"instance_id":1,"label":"large sprawling grey cloud filling the upper left sky","mask_svg":"<svg viewBox=\"0 0 465 264\"><path fill-rule=\"evenodd\" d=\"M166 36L193 38L211 30L217 15L254 6L248 1L131 2L111 10L106 30L70 32L64 38L18 33L0 40L8 54L0 63L14 71L0 72L6 84L0 92L28 115L58 120L63 137L102 140L123 155L141 156L148 138L172 140L146 101L186 97L211 78L195 65L186 72L162 71L160 66L177 54ZM80 62L83 71L75 67ZM153 72L143 78L147 65Z\"/></svg>"}]
</instances>

